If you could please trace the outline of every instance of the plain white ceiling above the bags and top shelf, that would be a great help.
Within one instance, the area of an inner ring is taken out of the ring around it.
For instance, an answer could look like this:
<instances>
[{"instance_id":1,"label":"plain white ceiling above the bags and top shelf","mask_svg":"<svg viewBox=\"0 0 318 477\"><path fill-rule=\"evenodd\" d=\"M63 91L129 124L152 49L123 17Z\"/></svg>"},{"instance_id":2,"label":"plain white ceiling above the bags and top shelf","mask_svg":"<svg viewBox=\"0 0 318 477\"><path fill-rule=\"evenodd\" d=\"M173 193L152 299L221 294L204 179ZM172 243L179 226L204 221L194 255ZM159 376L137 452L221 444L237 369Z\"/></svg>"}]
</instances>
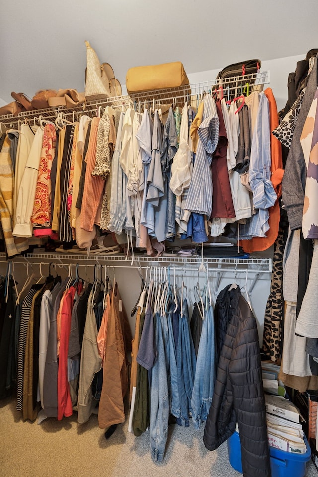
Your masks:
<instances>
[{"instance_id":1,"label":"plain white ceiling above the bags and top shelf","mask_svg":"<svg viewBox=\"0 0 318 477\"><path fill-rule=\"evenodd\" d=\"M317 47L317 7L317 0L7 0L0 98L83 91L86 39L123 84L133 66L180 60L190 74L303 54Z\"/></svg>"}]
</instances>

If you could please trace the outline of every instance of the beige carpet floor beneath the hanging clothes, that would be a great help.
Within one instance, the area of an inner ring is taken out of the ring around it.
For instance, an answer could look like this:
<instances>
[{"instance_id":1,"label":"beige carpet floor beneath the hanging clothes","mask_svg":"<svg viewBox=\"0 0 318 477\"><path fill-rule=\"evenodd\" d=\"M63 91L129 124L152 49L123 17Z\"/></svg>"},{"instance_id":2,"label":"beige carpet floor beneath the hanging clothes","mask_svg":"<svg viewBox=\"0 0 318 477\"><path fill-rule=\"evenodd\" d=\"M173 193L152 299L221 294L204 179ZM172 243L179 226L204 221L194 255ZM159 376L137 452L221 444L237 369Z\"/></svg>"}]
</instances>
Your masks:
<instances>
[{"instance_id":1,"label":"beige carpet floor beneath the hanging clothes","mask_svg":"<svg viewBox=\"0 0 318 477\"><path fill-rule=\"evenodd\" d=\"M162 463L150 456L149 435L129 433L128 419L106 440L97 416L79 426L77 414L42 424L23 422L15 398L0 401L0 477L239 477L228 459L227 444L207 451L203 428L169 426ZM307 464L306 476L318 474ZM296 477L296 476L292 476Z\"/></svg>"}]
</instances>

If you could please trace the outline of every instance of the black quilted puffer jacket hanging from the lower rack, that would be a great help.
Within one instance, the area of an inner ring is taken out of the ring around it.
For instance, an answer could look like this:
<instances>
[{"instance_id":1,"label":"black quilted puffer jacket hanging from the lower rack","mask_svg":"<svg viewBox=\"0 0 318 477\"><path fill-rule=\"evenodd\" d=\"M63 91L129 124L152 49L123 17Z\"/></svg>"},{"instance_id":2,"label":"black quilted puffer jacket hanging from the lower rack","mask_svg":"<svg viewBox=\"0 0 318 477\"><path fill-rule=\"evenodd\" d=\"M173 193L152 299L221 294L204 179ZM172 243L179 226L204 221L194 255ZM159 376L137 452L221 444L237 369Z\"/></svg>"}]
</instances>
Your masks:
<instances>
[{"instance_id":1,"label":"black quilted puffer jacket hanging from the lower rack","mask_svg":"<svg viewBox=\"0 0 318 477\"><path fill-rule=\"evenodd\" d=\"M270 477L256 319L239 287L230 286L217 299L216 336L223 346L203 441L207 449L217 449L238 422L244 477Z\"/></svg>"}]
</instances>

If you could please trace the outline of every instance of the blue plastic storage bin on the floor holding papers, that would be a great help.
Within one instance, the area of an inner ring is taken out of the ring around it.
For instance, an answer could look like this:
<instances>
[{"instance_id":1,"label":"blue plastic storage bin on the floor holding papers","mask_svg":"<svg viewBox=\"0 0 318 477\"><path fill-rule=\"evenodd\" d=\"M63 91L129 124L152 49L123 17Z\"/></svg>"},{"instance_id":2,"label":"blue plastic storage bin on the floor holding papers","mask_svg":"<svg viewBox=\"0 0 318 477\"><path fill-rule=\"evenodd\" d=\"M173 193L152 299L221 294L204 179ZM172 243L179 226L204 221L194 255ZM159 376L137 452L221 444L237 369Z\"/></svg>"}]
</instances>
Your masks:
<instances>
[{"instance_id":1,"label":"blue plastic storage bin on the floor holding papers","mask_svg":"<svg viewBox=\"0 0 318 477\"><path fill-rule=\"evenodd\" d=\"M306 437L304 441L307 447L305 454L285 452L270 447L270 467L272 477L304 477L306 474L306 462L311 458L311 450ZM235 432L228 439L229 461L231 466L239 472L242 470L242 454L240 450L239 433Z\"/></svg>"}]
</instances>

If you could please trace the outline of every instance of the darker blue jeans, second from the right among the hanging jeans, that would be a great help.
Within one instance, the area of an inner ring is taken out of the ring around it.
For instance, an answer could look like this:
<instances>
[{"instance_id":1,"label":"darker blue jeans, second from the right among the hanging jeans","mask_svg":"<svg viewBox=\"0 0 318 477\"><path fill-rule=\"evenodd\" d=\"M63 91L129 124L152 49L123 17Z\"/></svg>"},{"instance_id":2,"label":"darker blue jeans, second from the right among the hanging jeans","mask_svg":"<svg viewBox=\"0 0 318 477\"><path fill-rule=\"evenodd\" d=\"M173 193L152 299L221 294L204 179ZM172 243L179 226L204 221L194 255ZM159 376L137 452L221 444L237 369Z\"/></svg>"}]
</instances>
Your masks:
<instances>
[{"instance_id":1,"label":"darker blue jeans, second from the right among the hanging jeans","mask_svg":"<svg viewBox=\"0 0 318 477\"><path fill-rule=\"evenodd\" d=\"M177 349L178 388L181 414L179 425L189 426L189 414L196 368L196 357L192 336L189 330L187 301L183 301L182 318L179 318L179 340Z\"/></svg>"}]
</instances>

